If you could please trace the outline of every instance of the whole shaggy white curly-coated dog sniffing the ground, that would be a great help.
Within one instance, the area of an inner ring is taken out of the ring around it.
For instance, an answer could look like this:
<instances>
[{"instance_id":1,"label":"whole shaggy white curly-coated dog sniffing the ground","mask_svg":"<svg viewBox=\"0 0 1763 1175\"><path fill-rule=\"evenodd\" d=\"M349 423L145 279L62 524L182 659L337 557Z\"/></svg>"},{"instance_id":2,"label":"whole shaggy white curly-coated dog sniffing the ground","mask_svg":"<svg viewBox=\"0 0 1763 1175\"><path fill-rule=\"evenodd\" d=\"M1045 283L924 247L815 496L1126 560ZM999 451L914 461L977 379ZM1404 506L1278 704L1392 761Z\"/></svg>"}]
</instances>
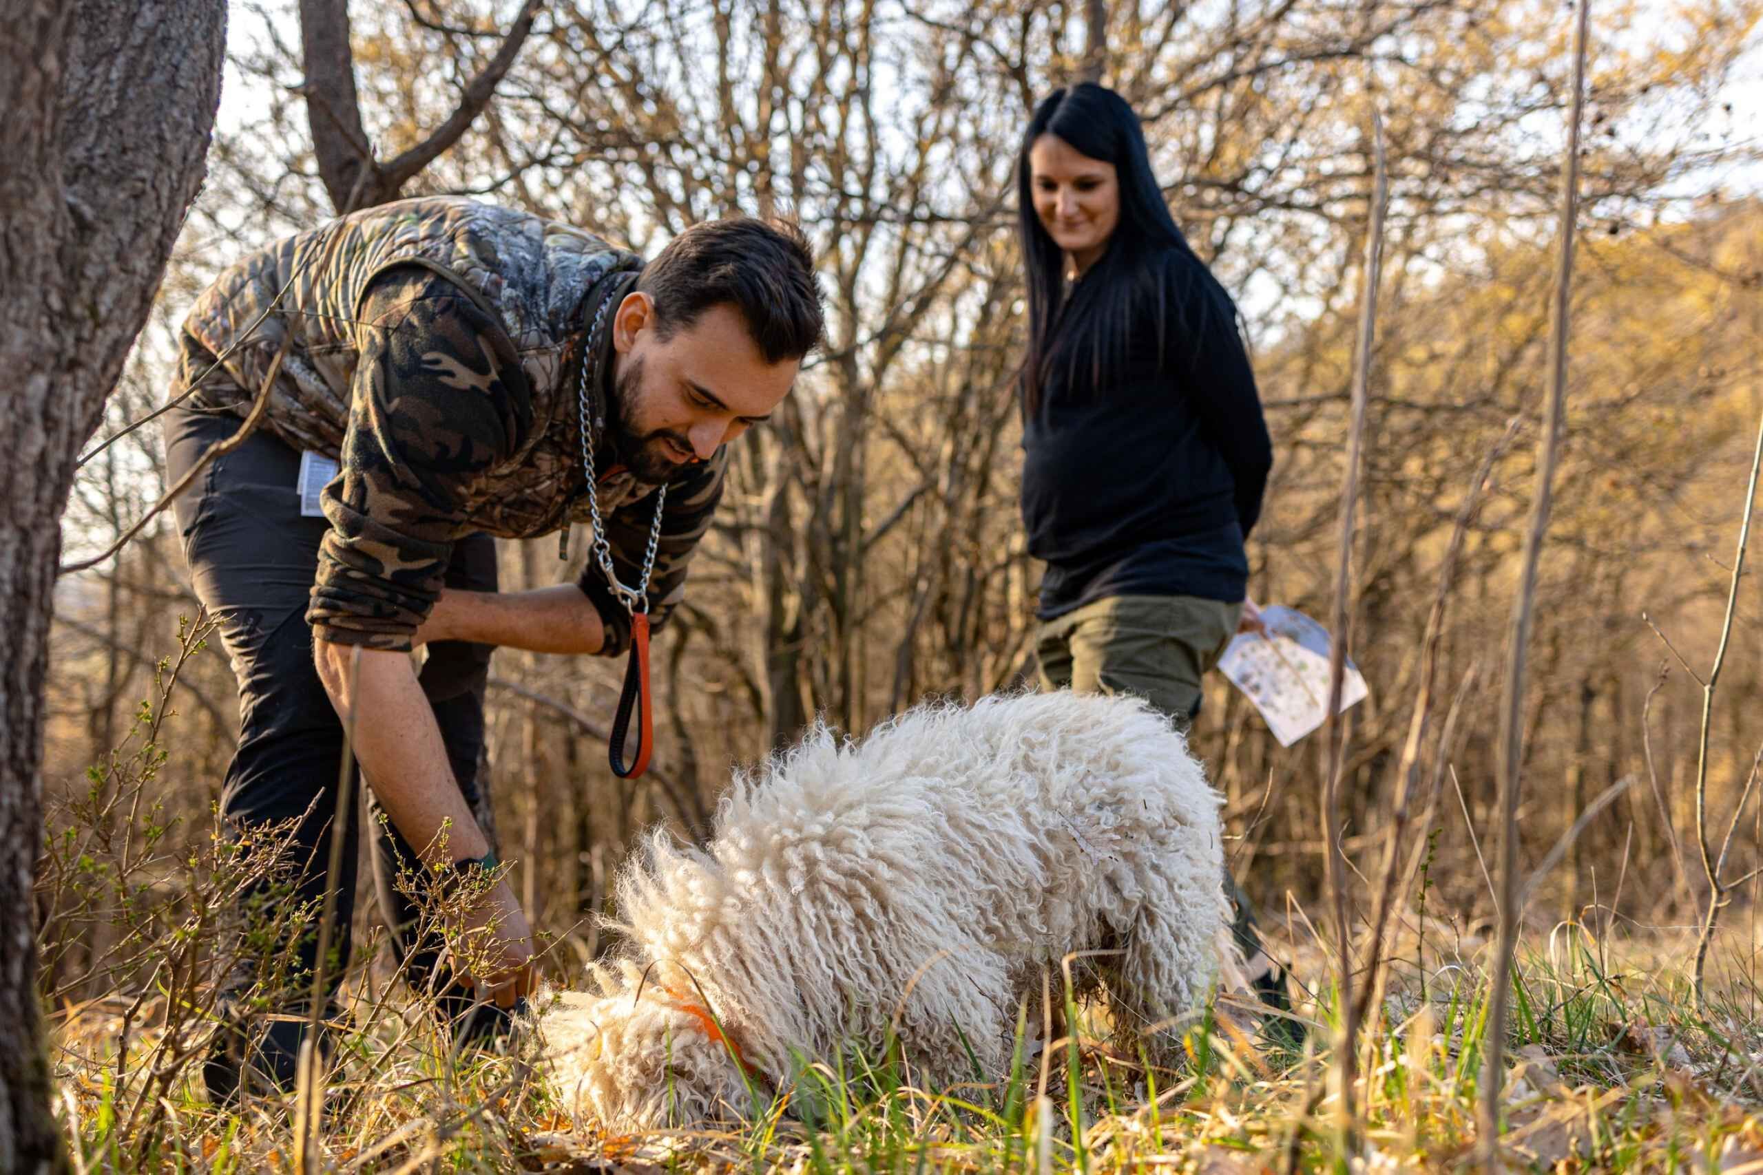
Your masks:
<instances>
[{"instance_id":1,"label":"whole shaggy white curly-coated dog sniffing the ground","mask_svg":"<svg viewBox=\"0 0 1763 1175\"><path fill-rule=\"evenodd\" d=\"M1220 798L1149 706L1072 692L813 729L737 775L700 851L652 833L624 955L541 1013L566 1108L605 1129L749 1112L804 1062L894 1041L924 1083L1008 1073L1044 971L1084 958L1116 1043L1169 1062L1229 953ZM1038 1020L1038 1016L1037 1016ZM1149 1031L1157 1025L1165 1031Z\"/></svg>"}]
</instances>

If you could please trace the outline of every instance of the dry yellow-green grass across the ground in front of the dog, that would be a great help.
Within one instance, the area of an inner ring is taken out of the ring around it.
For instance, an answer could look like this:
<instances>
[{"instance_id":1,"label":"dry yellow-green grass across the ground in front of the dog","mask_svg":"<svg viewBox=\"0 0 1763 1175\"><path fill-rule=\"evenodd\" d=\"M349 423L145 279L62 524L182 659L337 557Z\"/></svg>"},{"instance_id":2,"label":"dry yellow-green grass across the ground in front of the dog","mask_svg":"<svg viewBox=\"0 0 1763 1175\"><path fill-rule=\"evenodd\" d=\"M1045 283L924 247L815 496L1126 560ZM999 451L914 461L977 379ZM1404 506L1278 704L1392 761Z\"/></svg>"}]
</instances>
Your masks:
<instances>
[{"instance_id":1,"label":"dry yellow-green grass across the ground in front of the dog","mask_svg":"<svg viewBox=\"0 0 1763 1175\"><path fill-rule=\"evenodd\" d=\"M1696 1011L1687 942L1610 942L1560 927L1520 953L1502 1138L1511 1170L1763 1170L1763 992L1749 960L1728 953ZM1088 1025L1077 1041L1054 1041L1045 1064L1024 1039L1003 1083L926 1090L913 1085L910 1057L846 1055L818 1064L797 1096L746 1108L719 1129L606 1138L559 1112L532 1064L534 1038L513 1055L455 1055L420 1004L358 974L356 1022L340 1025L324 1082L316 1170L1458 1170L1476 1142L1486 944L1430 925L1425 953L1417 948L1414 939L1396 951L1393 992L1366 1024L1356 1090L1363 1149L1350 1159L1335 1097L1315 1096L1328 1089L1328 1050L1252 1043L1239 1013L1192 1027L1179 1073L1148 1075L1105 1053L1091 1041L1091 1029L1097 1039L1104 1032ZM1308 953L1320 967L1322 951ZM1326 1043L1328 997L1299 1011ZM120 999L55 1018L58 1110L76 1166L293 1170L293 1097L215 1110L194 1062L164 1094L173 1129L130 1134L127 1108L150 1080L162 1018L153 1002L136 1011L127 1029L136 1060L122 1071Z\"/></svg>"}]
</instances>

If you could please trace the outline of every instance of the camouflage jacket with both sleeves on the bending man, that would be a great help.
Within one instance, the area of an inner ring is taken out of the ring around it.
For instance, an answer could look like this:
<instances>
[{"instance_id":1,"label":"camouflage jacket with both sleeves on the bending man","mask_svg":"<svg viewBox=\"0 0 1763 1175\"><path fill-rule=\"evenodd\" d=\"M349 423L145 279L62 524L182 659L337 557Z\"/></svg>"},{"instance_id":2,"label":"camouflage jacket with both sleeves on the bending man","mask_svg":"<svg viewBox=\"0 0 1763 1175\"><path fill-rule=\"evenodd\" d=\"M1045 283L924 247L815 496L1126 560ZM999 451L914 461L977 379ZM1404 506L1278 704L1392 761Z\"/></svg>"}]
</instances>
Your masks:
<instances>
[{"instance_id":1,"label":"camouflage jacket with both sleeves on the bending man","mask_svg":"<svg viewBox=\"0 0 1763 1175\"><path fill-rule=\"evenodd\" d=\"M640 264L566 224L418 197L259 250L197 299L178 389L199 379L196 405L247 414L291 331L263 428L340 462L307 611L317 636L409 648L457 539L587 521L577 395L587 322ZM592 347L610 384L610 329ZM596 467L614 565L635 583L656 486L598 437ZM719 451L668 486L649 583L656 627L684 594L725 469ZM601 652L628 648L628 618L592 560L580 587L606 625Z\"/></svg>"}]
</instances>

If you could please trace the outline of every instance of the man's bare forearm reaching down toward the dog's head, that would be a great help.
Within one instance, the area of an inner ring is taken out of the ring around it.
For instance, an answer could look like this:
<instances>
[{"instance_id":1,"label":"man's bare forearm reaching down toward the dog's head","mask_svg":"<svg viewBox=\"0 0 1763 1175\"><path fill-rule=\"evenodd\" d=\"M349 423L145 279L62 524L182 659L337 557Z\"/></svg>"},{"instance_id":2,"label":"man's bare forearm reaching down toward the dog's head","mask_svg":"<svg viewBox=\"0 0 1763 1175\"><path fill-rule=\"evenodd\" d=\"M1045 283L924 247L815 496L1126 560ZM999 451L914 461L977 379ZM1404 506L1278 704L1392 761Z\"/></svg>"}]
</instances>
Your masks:
<instances>
[{"instance_id":1,"label":"man's bare forearm reaching down toward the dog's head","mask_svg":"<svg viewBox=\"0 0 1763 1175\"><path fill-rule=\"evenodd\" d=\"M441 728L416 684L409 654L363 648L356 659L353 647L324 639L314 639L312 652L344 724L349 726L351 708L358 717L354 757L404 839L428 863L488 853L490 842L453 779Z\"/></svg>"}]
</instances>

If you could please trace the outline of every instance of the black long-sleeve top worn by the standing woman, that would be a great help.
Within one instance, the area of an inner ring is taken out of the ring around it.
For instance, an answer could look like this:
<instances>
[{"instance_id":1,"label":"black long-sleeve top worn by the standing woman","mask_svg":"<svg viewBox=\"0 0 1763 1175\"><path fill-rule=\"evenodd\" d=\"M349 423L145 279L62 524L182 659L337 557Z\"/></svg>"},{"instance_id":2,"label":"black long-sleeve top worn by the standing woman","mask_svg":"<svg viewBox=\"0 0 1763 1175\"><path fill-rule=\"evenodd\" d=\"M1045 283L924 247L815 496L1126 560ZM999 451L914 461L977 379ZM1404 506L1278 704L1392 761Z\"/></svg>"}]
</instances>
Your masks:
<instances>
[{"instance_id":1,"label":"black long-sleeve top worn by the standing woman","mask_svg":"<svg viewBox=\"0 0 1763 1175\"><path fill-rule=\"evenodd\" d=\"M1248 585L1243 541L1273 467L1255 375L1199 261L1169 250L1144 266L1095 275L1164 291L1135 299L1105 386L1056 351L1024 407L1023 521L1047 564L1044 620L1107 595L1236 602Z\"/></svg>"}]
</instances>

